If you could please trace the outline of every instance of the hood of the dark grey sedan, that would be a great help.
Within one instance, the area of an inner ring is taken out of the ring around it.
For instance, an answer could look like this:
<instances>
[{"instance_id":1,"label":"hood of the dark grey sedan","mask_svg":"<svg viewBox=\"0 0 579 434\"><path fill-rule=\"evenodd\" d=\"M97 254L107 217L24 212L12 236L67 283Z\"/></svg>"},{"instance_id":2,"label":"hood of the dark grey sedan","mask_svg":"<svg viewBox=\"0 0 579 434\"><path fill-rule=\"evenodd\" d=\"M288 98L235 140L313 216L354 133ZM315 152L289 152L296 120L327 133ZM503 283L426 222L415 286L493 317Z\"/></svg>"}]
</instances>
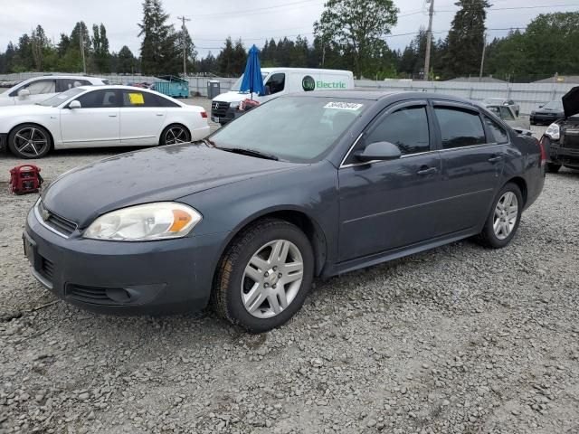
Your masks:
<instances>
[{"instance_id":1,"label":"hood of the dark grey sedan","mask_svg":"<svg viewBox=\"0 0 579 434\"><path fill-rule=\"evenodd\" d=\"M54 181L42 197L48 210L85 228L99 215L119 208L175 201L185 195L300 166L200 144L162 146L73 169Z\"/></svg>"}]
</instances>

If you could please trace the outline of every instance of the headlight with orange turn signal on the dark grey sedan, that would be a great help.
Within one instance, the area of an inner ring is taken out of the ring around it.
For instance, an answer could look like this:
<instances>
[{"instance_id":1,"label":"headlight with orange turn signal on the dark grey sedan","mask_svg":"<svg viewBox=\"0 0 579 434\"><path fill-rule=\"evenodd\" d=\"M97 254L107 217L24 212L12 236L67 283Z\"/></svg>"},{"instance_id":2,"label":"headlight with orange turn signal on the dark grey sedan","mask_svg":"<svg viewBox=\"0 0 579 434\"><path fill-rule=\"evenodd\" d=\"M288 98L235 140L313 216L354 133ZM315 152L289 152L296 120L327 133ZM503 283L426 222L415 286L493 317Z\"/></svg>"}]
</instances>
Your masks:
<instances>
[{"instance_id":1,"label":"headlight with orange turn signal on the dark grey sedan","mask_svg":"<svg viewBox=\"0 0 579 434\"><path fill-rule=\"evenodd\" d=\"M110 241L181 238L202 218L199 212L183 203L147 203L101 215L84 231L84 237Z\"/></svg>"}]
</instances>

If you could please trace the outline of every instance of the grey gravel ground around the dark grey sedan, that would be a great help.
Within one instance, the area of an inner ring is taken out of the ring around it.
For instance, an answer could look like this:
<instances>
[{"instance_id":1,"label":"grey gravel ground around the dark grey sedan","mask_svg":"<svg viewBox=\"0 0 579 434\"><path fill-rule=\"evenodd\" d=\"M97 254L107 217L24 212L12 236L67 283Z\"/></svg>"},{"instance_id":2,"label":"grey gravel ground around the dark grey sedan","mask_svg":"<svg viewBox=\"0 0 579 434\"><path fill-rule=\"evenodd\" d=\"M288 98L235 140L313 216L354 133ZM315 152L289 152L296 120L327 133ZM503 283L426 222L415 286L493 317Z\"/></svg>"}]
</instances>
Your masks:
<instances>
[{"instance_id":1,"label":"grey gravel ground around the dark grey sedan","mask_svg":"<svg viewBox=\"0 0 579 434\"><path fill-rule=\"evenodd\" d=\"M56 175L119 150L43 159ZM579 432L579 173L504 250L454 243L318 281L246 335L212 313L97 316L23 257L34 197L0 156L0 432Z\"/></svg>"}]
</instances>

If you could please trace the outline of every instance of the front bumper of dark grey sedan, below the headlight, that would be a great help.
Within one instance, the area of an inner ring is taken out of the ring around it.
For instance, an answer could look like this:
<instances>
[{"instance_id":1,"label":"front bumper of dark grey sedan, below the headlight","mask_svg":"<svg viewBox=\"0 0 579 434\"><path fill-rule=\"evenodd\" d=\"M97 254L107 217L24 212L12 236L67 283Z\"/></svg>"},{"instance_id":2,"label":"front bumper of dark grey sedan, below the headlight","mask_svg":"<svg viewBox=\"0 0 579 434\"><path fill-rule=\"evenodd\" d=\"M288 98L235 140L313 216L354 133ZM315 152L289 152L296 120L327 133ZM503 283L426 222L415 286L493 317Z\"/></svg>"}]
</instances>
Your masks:
<instances>
[{"instance_id":1,"label":"front bumper of dark grey sedan, below the headlight","mask_svg":"<svg viewBox=\"0 0 579 434\"><path fill-rule=\"evenodd\" d=\"M167 315L204 308L227 233L148 242L70 238L33 210L23 234L33 275L72 305L94 312Z\"/></svg>"}]
</instances>

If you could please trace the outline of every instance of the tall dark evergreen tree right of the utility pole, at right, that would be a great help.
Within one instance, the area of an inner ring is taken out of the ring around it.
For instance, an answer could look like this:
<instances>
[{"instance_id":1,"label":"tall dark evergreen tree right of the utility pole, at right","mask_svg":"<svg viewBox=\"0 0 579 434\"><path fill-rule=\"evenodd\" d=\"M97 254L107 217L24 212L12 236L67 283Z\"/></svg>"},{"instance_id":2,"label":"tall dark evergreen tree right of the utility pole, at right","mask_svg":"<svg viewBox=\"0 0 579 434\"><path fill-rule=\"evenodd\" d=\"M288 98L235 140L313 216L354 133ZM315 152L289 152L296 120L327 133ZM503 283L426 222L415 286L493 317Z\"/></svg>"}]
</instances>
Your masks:
<instances>
[{"instance_id":1,"label":"tall dark evergreen tree right of the utility pole, at right","mask_svg":"<svg viewBox=\"0 0 579 434\"><path fill-rule=\"evenodd\" d=\"M486 8L488 0L459 0L446 39L445 75L468 76L479 73L480 58L485 43Z\"/></svg>"}]
</instances>

